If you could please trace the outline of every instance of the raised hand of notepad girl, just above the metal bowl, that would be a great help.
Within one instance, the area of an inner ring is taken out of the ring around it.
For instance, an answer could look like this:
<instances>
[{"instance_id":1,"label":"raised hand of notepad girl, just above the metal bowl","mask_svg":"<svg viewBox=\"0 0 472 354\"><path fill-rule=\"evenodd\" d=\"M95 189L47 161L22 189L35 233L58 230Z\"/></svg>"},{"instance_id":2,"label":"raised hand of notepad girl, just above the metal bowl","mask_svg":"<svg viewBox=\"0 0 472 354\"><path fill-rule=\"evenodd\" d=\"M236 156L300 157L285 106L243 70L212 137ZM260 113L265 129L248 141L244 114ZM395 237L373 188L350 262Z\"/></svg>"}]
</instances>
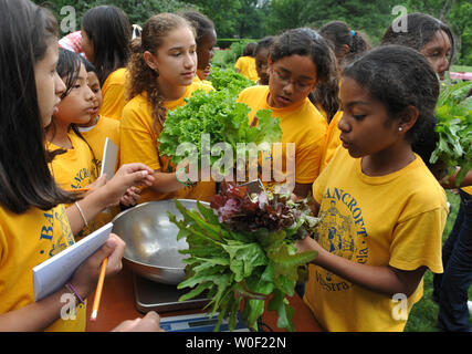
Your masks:
<instances>
[{"instance_id":1,"label":"raised hand of notepad girl, just above the metal bowl","mask_svg":"<svg viewBox=\"0 0 472 354\"><path fill-rule=\"evenodd\" d=\"M154 170L144 164L123 165L113 178L103 187L106 188L108 205L116 205L130 187L149 187L154 181Z\"/></svg>"}]
</instances>

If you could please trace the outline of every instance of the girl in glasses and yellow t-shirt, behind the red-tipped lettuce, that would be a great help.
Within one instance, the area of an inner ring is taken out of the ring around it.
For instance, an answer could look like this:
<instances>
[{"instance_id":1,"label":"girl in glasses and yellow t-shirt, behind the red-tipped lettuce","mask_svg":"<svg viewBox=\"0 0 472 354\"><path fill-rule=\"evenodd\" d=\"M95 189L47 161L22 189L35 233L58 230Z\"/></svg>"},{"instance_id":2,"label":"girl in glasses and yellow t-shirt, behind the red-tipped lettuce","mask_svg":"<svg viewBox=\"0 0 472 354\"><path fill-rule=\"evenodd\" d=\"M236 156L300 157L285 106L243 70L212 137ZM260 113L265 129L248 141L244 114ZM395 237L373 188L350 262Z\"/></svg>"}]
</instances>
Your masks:
<instances>
[{"instance_id":1,"label":"girl in glasses and yellow t-shirt, behind the red-tipped lettuce","mask_svg":"<svg viewBox=\"0 0 472 354\"><path fill-rule=\"evenodd\" d=\"M251 107L250 119L258 110L272 110L282 127L282 153L273 149L275 165L282 158L285 188L306 197L319 174L326 139L327 123L307 98L316 85L326 83L335 74L334 55L323 38L311 29L296 29L276 38L269 54L269 86L245 88L239 102ZM289 150L293 148L293 150ZM262 162L262 169L263 162ZM262 179L264 173L262 173ZM273 168L266 185L283 181Z\"/></svg>"}]
</instances>

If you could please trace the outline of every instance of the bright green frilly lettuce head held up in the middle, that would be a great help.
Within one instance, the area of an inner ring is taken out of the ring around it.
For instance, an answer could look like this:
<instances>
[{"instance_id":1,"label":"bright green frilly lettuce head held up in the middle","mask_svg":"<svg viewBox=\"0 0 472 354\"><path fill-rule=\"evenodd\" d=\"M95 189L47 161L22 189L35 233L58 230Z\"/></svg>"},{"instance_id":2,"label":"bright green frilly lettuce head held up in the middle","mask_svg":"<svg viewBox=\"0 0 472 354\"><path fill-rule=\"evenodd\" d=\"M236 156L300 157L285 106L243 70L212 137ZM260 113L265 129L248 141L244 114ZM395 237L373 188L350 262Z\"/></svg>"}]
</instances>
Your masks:
<instances>
[{"instance_id":1,"label":"bright green frilly lettuce head held up in the middle","mask_svg":"<svg viewBox=\"0 0 472 354\"><path fill-rule=\"evenodd\" d=\"M233 162L237 160L239 143L277 143L282 139L282 128L272 111L256 112L259 124L249 124L251 110L244 103L235 102L235 97L227 90L196 91L187 104L168 112L164 129L159 136L159 152L171 156L172 164L180 163L186 156L177 155L181 144L191 144L198 149L199 160L202 154L202 136L210 136L210 145L224 142L230 145ZM219 154L218 154L219 153ZM183 154L182 154L183 155ZM210 166L221 158L223 152L211 154Z\"/></svg>"}]
</instances>

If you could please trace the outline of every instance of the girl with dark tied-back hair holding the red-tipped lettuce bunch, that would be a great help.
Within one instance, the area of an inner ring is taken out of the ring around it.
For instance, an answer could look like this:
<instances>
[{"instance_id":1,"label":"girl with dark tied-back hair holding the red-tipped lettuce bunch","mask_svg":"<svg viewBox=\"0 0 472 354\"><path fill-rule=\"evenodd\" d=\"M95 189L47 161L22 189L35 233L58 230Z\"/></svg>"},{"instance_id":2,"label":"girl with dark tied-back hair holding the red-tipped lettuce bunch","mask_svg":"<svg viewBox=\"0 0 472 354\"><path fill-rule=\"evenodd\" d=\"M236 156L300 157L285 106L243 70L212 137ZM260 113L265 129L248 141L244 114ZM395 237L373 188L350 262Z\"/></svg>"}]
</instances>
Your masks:
<instances>
[{"instance_id":1,"label":"girl with dark tied-back hair holding the red-tipped lettuce bunch","mask_svg":"<svg viewBox=\"0 0 472 354\"><path fill-rule=\"evenodd\" d=\"M409 48L378 48L345 69L343 147L313 185L315 239L296 243L318 252L304 301L328 331L402 331L424 271L443 271L445 194L411 148L438 95Z\"/></svg>"}]
</instances>

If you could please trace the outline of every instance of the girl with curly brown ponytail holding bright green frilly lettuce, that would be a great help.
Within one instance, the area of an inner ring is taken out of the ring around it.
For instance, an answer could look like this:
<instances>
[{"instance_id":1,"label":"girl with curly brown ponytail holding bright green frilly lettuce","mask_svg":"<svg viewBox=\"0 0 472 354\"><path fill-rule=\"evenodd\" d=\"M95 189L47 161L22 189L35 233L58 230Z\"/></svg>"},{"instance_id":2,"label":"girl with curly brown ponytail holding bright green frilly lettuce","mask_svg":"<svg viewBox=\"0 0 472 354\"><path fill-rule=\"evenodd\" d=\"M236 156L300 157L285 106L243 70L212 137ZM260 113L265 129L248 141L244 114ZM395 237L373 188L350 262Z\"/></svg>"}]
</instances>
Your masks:
<instances>
[{"instance_id":1,"label":"girl with curly brown ponytail holding bright green frilly lettuce","mask_svg":"<svg viewBox=\"0 0 472 354\"><path fill-rule=\"evenodd\" d=\"M180 15L160 13L143 28L133 42L129 64L130 101L123 110L120 164L140 162L155 170L155 184L141 191L140 201L170 198L209 200L216 194L212 181L187 184L186 171L159 155L157 138L167 110L185 104L192 92L210 86L193 81L197 70L193 28ZM186 186L183 186L186 185Z\"/></svg>"}]
</instances>

